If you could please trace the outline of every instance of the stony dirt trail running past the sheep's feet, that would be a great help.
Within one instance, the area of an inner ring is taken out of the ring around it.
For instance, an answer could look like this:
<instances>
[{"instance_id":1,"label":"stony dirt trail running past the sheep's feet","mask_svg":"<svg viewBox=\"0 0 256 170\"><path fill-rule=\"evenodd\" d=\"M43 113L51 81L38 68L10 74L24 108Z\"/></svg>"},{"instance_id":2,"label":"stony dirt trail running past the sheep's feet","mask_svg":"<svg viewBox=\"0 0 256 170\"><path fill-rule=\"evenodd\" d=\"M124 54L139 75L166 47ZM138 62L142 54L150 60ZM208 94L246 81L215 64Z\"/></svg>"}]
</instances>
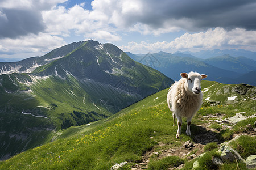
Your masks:
<instances>
[{"instance_id":1,"label":"stony dirt trail running past the sheep's feet","mask_svg":"<svg viewBox=\"0 0 256 170\"><path fill-rule=\"evenodd\" d=\"M134 167L131 168L131 170L147 169L151 156L154 156L154 158L158 158L158 159L162 159L167 156L179 156L180 158L183 158L183 159L192 160L205 152L204 146L207 145L207 143L216 142L219 146L223 145L223 142L225 140L223 138L220 138L220 135L218 135L218 133L220 133L220 131L223 129L227 129L227 128L232 129L237 122L244 120L246 118L242 116L241 113L237 113L232 118L223 119L223 117L224 117L224 114L221 114L221 113L203 116L202 119L207 121L206 123L201 125L193 125L199 128L200 133L196 133L195 135L192 135L192 141L189 140L187 142L183 142L183 145L180 147L174 147L171 144L158 142L159 145L153 147L150 151L147 151L143 155L141 162L134 165ZM240 117L240 119L238 117ZM249 117L256 117L256 113ZM232 122L232 120L234 122ZM218 123L220 126L222 126L222 128L221 129L210 128L210 125L212 125L213 123ZM255 136L256 128L253 129L253 128L250 128L250 126L251 126L250 124L247 125L247 129L244 130L245 133L233 134L230 140L236 139L240 135ZM164 149L159 150L159 148L164 148ZM184 167L184 164L181 164L179 167L169 168L169 169L182 169L183 167Z\"/></svg>"}]
</instances>

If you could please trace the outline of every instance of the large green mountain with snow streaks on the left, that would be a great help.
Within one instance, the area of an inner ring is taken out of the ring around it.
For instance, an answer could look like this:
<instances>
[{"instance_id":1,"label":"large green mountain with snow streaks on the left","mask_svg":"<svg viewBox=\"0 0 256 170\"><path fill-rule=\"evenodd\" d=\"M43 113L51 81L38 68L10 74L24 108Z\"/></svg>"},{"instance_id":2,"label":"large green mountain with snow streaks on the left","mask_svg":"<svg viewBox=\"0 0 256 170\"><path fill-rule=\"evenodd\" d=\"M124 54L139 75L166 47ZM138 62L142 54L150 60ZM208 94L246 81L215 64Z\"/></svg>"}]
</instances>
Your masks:
<instances>
[{"instance_id":1,"label":"large green mountain with snow streaks on the left","mask_svg":"<svg viewBox=\"0 0 256 170\"><path fill-rule=\"evenodd\" d=\"M159 71L112 44L74 42L41 57L0 63L0 160L109 117L170 87Z\"/></svg>"}]
</instances>

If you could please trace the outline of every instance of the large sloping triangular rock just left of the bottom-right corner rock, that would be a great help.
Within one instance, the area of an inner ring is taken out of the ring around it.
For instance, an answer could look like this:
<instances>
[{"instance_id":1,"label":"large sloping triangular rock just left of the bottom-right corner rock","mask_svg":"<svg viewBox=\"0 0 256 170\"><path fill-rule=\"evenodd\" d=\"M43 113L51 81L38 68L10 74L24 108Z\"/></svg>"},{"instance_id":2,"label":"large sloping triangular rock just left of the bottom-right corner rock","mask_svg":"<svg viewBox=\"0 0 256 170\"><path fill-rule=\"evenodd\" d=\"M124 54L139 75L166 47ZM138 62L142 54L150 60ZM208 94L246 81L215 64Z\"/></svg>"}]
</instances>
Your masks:
<instances>
[{"instance_id":1,"label":"large sloping triangular rock just left of the bottom-right corner rock","mask_svg":"<svg viewBox=\"0 0 256 170\"><path fill-rule=\"evenodd\" d=\"M221 153L221 160L223 162L235 162L236 160L240 160L243 163L246 163L246 161L240 156L240 154L238 154L238 152L230 146L224 147L224 150Z\"/></svg>"}]
</instances>

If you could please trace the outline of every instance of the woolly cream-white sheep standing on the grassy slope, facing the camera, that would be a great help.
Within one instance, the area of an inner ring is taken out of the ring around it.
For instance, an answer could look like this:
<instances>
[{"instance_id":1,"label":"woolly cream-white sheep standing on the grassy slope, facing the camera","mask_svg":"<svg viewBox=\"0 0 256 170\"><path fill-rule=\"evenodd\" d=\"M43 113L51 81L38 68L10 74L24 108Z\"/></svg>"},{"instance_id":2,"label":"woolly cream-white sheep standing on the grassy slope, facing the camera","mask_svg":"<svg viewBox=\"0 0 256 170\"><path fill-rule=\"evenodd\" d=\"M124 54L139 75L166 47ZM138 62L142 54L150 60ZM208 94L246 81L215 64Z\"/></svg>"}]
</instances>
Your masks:
<instances>
[{"instance_id":1,"label":"woolly cream-white sheep standing on the grassy slope, facing the camera","mask_svg":"<svg viewBox=\"0 0 256 170\"><path fill-rule=\"evenodd\" d=\"M178 130L176 138L179 138L181 134L182 117L187 117L186 134L191 135L192 117L203 103L200 82L202 79L207 78L207 75L196 72L181 73L180 75L181 79L172 84L167 95L167 103L170 111L172 111L174 126L175 118L177 117Z\"/></svg>"}]
</instances>

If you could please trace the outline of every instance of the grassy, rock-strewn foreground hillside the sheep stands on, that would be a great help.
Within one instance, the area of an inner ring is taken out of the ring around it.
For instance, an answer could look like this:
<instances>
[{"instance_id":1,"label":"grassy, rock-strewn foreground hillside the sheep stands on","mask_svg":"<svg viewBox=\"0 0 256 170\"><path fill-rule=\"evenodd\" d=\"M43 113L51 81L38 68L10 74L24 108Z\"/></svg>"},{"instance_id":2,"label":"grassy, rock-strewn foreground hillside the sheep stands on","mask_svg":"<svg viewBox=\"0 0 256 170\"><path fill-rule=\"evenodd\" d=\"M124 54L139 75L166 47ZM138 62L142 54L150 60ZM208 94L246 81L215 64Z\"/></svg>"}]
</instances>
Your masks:
<instances>
[{"instance_id":1,"label":"grassy, rock-strewn foreground hillside the sheep stands on","mask_svg":"<svg viewBox=\"0 0 256 170\"><path fill-rule=\"evenodd\" d=\"M245 160L256 155L256 88L205 80L201 87L204 104L192 119L191 137L183 124L176 138L167 88L105 120L63 129L55 141L0 162L0 169L110 169L115 164L133 170L192 169L196 164L195 169L247 169L237 157L231 162L224 157L230 147ZM239 114L242 119L229 121ZM249 136L236 138L242 134Z\"/></svg>"}]
</instances>

